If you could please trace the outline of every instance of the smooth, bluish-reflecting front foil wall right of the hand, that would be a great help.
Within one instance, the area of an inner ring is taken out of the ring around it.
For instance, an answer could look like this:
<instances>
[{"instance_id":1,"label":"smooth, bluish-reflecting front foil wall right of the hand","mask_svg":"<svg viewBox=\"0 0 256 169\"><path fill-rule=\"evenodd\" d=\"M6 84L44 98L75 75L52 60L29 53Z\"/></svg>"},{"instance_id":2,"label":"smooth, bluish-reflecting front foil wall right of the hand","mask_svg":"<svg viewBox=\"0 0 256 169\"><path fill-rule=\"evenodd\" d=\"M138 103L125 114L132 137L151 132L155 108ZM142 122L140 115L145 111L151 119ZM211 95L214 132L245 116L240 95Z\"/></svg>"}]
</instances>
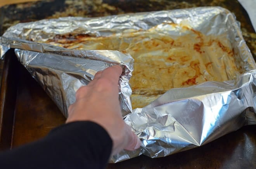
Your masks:
<instances>
[{"instance_id":1,"label":"smooth, bluish-reflecting front foil wall right of the hand","mask_svg":"<svg viewBox=\"0 0 256 169\"><path fill-rule=\"evenodd\" d=\"M244 125L256 125L256 70L235 82L205 82L171 89L125 122L142 140L140 149L123 150L111 162L144 154L152 158L199 147Z\"/></svg>"}]
</instances>

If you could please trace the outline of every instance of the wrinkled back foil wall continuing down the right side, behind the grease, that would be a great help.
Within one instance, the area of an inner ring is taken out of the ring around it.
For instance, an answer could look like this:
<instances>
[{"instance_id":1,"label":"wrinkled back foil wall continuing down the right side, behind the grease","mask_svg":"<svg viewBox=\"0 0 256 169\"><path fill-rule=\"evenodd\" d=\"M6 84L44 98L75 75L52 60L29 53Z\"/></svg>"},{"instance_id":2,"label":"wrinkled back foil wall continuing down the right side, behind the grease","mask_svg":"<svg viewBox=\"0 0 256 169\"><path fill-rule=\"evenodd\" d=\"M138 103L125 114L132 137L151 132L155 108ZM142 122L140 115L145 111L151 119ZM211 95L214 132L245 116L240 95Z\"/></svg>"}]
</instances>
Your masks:
<instances>
[{"instance_id":1,"label":"wrinkled back foil wall continuing down the right side, behind the grease","mask_svg":"<svg viewBox=\"0 0 256 169\"><path fill-rule=\"evenodd\" d=\"M191 9L140 12L135 14L111 15L97 18L61 17L36 22L19 23L9 27L3 34L6 38L20 38L40 43L62 34L88 34L89 36L110 36L119 32L147 30L165 22L188 26L205 35L228 34L238 66L244 70L256 68L256 63L240 31L235 16L221 7L198 7ZM216 28L217 27L217 28ZM173 36L182 34L169 30Z\"/></svg>"}]
</instances>

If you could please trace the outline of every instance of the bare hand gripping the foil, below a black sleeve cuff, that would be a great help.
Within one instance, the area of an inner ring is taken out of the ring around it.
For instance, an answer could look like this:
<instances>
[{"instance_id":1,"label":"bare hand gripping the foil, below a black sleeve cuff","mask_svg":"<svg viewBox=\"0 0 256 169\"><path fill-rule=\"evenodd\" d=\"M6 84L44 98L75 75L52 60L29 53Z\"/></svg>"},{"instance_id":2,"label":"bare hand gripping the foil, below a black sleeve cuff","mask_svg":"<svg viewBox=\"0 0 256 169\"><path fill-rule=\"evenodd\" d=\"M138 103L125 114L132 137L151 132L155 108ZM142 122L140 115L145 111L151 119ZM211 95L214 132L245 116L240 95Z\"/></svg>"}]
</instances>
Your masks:
<instances>
[{"instance_id":1,"label":"bare hand gripping the foil, below a black sleeve cuff","mask_svg":"<svg viewBox=\"0 0 256 169\"><path fill-rule=\"evenodd\" d=\"M97 72L88 85L76 92L76 102L69 106L66 121L93 121L101 125L113 141L112 155L140 147L139 138L121 116L118 95L121 73L122 68L117 65Z\"/></svg>"}]
</instances>

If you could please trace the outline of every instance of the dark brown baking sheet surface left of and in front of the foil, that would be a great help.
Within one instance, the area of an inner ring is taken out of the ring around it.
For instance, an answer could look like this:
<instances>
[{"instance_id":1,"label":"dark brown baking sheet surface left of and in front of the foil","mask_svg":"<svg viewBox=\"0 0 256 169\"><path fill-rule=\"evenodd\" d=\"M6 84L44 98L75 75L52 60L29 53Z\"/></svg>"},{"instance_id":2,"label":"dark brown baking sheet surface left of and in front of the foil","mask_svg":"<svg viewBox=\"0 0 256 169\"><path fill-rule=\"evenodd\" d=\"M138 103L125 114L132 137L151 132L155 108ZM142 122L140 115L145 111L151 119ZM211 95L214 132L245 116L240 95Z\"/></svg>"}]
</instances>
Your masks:
<instances>
[{"instance_id":1,"label":"dark brown baking sheet surface left of and in front of the foil","mask_svg":"<svg viewBox=\"0 0 256 169\"><path fill-rule=\"evenodd\" d=\"M0 150L38 140L64 123L61 111L19 64L13 50L6 53L2 80ZM107 169L255 168L255 131L256 125L245 126L197 149L157 159L141 155Z\"/></svg>"}]
</instances>

